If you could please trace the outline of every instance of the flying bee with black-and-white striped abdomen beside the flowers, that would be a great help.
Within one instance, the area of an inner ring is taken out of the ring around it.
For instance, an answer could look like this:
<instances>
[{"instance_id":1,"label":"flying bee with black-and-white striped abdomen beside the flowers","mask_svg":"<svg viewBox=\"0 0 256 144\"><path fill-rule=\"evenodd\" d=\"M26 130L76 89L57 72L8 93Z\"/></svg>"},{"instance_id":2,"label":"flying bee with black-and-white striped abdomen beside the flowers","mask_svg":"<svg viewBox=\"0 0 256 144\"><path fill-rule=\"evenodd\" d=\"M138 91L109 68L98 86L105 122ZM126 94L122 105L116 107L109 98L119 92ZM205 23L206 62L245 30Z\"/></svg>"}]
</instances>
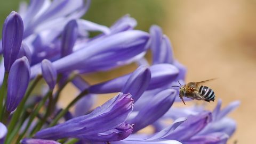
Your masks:
<instances>
[{"instance_id":1,"label":"flying bee with black-and-white striped abdomen beside the flowers","mask_svg":"<svg viewBox=\"0 0 256 144\"><path fill-rule=\"evenodd\" d=\"M202 83L205 83L211 80L214 80L214 79L199 81L199 82L189 82L183 86L178 81L180 86L172 86L172 87L180 88L179 96L184 104L185 104L185 101L183 97L196 99L196 100L205 100L210 103L210 101L214 101L215 94L211 88L203 86Z\"/></svg>"}]
</instances>

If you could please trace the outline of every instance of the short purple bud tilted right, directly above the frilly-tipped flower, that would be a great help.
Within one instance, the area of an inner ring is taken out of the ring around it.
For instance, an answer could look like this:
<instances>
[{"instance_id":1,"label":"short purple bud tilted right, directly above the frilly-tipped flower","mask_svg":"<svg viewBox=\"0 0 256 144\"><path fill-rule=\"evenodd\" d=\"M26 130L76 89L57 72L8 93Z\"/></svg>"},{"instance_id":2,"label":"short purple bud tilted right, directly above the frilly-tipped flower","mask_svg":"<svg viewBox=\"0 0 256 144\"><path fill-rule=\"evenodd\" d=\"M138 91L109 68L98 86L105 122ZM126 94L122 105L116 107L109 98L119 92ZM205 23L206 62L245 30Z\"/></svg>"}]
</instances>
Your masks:
<instances>
[{"instance_id":1,"label":"short purple bud tilted right, directly above the frilly-tipped flower","mask_svg":"<svg viewBox=\"0 0 256 144\"><path fill-rule=\"evenodd\" d=\"M124 94L131 94L135 102L148 88L150 79L150 70L146 66L140 66L130 75L124 84L122 92Z\"/></svg>"}]
</instances>

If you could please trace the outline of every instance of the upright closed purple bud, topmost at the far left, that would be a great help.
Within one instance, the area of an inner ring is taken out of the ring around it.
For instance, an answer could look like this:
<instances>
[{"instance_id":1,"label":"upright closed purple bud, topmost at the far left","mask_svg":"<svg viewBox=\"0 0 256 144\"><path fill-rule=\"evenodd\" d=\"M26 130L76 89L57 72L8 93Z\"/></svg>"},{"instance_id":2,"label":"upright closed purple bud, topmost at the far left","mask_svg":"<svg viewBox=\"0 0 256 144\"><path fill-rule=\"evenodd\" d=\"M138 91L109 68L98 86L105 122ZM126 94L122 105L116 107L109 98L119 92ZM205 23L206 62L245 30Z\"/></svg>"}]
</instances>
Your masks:
<instances>
[{"instance_id":1,"label":"upright closed purple bud, topmost at the far left","mask_svg":"<svg viewBox=\"0 0 256 144\"><path fill-rule=\"evenodd\" d=\"M17 12L12 11L7 16L2 32L5 71L9 72L17 59L23 37L23 21Z\"/></svg>"}]
</instances>

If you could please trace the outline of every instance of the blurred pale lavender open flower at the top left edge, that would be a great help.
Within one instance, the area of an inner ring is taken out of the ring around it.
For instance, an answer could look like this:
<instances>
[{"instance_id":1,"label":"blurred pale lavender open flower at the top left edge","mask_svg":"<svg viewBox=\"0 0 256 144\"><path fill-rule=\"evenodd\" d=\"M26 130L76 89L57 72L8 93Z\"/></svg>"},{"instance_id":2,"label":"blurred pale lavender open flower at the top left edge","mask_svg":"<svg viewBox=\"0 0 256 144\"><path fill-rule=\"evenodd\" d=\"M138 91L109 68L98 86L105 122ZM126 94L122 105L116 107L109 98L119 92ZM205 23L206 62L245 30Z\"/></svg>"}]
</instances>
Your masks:
<instances>
[{"instance_id":1,"label":"blurred pale lavender open flower at the top left edge","mask_svg":"<svg viewBox=\"0 0 256 144\"><path fill-rule=\"evenodd\" d=\"M33 33L45 30L61 31L68 21L80 18L88 9L90 1L60 0L60 1L31 1L23 14L27 38Z\"/></svg>"}]
</instances>

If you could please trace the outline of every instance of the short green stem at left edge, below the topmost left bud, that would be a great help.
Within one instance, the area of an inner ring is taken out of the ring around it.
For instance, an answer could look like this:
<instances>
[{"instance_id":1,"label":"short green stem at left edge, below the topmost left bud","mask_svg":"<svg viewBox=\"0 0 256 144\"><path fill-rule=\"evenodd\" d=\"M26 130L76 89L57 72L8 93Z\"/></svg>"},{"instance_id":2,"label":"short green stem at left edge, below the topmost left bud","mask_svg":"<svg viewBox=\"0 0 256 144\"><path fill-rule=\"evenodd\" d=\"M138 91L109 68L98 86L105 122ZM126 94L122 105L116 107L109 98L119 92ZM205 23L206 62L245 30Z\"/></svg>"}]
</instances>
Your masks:
<instances>
[{"instance_id":1,"label":"short green stem at left edge, below the topmost left bud","mask_svg":"<svg viewBox=\"0 0 256 144\"><path fill-rule=\"evenodd\" d=\"M2 87L0 89L0 121L2 121L2 118L4 116L4 109L5 107L3 107L4 104L4 98L6 97L7 94L7 80L8 80L8 72L4 73L4 80L2 83Z\"/></svg>"}]
</instances>

